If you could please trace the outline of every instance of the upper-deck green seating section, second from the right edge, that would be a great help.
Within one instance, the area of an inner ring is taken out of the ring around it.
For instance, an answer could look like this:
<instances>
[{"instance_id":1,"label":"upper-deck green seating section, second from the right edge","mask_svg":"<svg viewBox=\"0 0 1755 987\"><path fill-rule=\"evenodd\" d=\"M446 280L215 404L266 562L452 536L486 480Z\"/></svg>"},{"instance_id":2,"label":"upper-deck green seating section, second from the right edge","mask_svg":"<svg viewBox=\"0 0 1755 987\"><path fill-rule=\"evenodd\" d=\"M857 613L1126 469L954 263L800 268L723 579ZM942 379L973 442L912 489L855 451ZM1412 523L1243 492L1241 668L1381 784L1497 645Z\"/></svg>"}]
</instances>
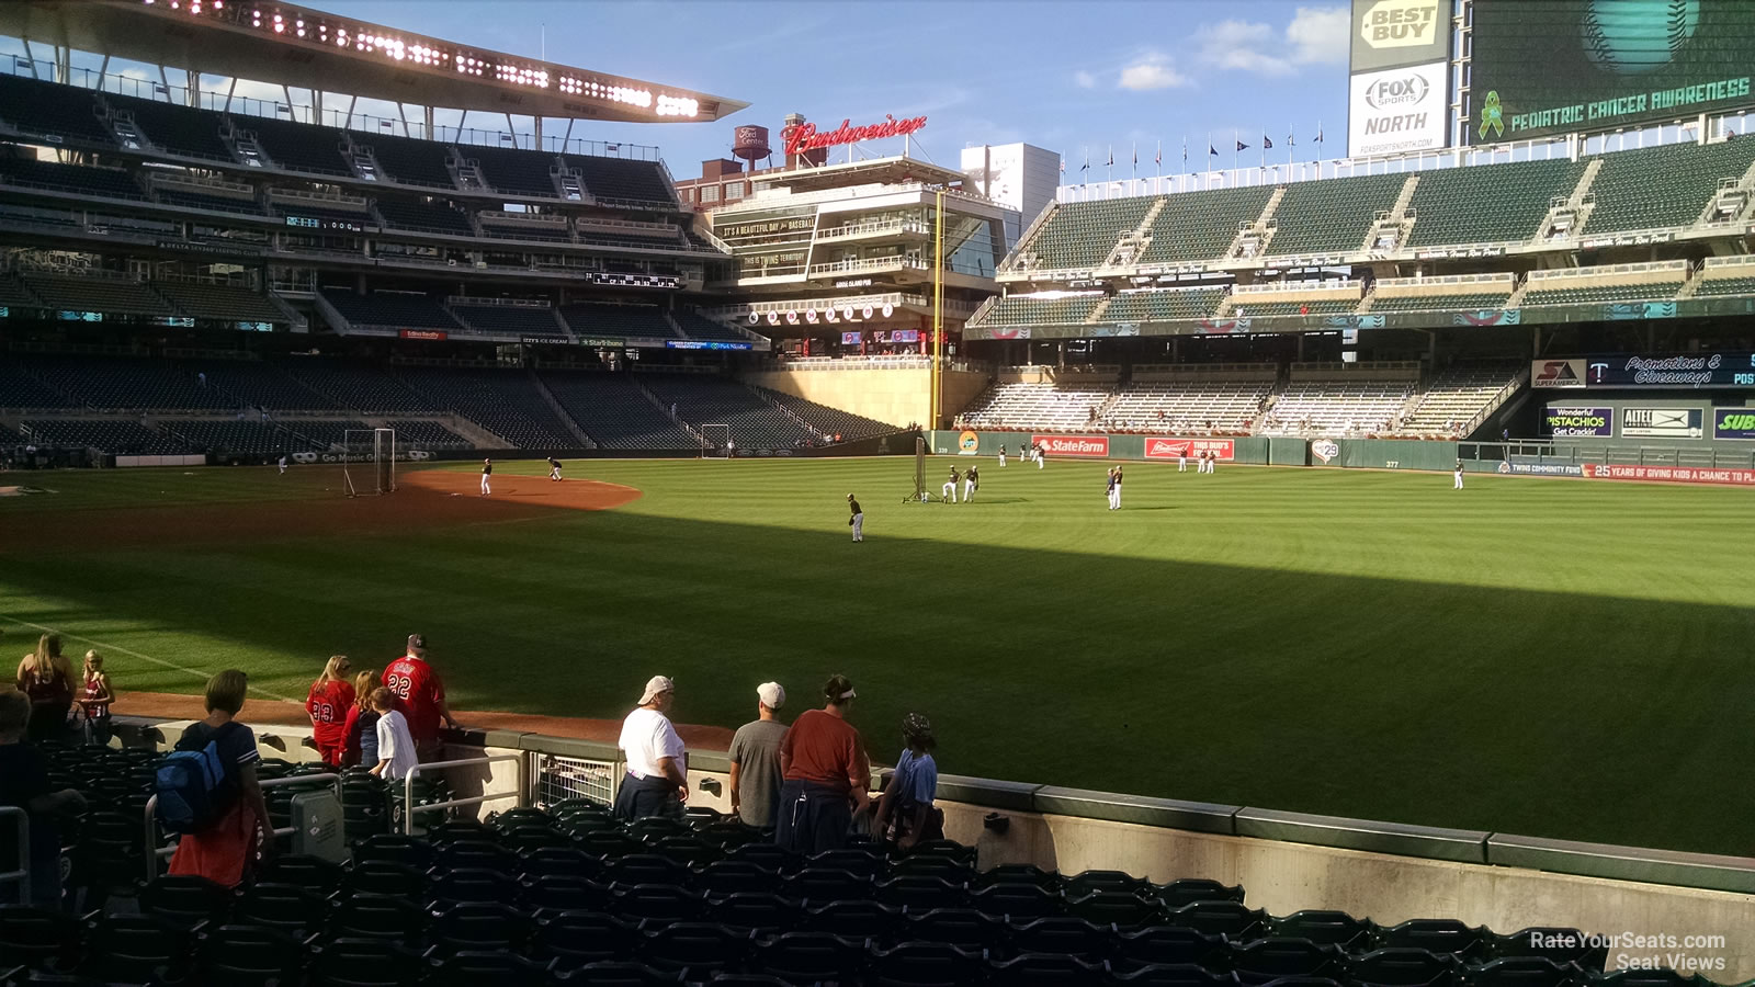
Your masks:
<instances>
[{"instance_id":1,"label":"upper-deck green seating section, second from the right edge","mask_svg":"<svg viewBox=\"0 0 1755 987\"><path fill-rule=\"evenodd\" d=\"M1420 172L1408 246L1529 241L1555 197L1571 195L1585 163L1511 162Z\"/></svg>"}]
</instances>

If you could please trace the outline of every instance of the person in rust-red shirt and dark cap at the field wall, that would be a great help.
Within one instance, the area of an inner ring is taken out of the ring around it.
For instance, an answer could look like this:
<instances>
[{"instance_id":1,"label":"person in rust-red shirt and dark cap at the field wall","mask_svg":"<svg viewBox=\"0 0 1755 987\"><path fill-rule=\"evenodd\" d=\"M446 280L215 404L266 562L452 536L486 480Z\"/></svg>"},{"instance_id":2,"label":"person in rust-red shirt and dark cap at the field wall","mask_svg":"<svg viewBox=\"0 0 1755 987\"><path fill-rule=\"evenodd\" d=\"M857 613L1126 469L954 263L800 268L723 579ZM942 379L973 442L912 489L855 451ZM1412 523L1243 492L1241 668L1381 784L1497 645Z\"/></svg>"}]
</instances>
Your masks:
<instances>
[{"instance_id":1,"label":"person in rust-red shirt and dark cap at the field wall","mask_svg":"<svg viewBox=\"0 0 1755 987\"><path fill-rule=\"evenodd\" d=\"M823 685L821 710L804 711L779 745L779 818L774 841L799 854L848 845L853 811L870 803L870 760L848 722L858 692L848 676Z\"/></svg>"}]
</instances>

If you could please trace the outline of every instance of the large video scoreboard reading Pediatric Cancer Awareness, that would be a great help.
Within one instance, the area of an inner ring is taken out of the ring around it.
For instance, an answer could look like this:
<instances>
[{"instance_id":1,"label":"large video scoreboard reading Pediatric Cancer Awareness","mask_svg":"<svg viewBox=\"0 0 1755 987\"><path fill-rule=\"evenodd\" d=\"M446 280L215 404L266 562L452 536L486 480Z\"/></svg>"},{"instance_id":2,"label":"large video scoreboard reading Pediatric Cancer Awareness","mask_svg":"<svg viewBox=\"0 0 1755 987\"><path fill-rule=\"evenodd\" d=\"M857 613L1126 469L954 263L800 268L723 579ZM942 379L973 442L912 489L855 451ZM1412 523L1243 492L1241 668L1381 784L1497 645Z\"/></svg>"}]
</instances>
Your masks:
<instances>
[{"instance_id":1,"label":"large video scoreboard reading Pediatric Cancer Awareness","mask_svg":"<svg viewBox=\"0 0 1755 987\"><path fill-rule=\"evenodd\" d=\"M1750 104L1750 0L1474 0L1469 144Z\"/></svg>"}]
</instances>

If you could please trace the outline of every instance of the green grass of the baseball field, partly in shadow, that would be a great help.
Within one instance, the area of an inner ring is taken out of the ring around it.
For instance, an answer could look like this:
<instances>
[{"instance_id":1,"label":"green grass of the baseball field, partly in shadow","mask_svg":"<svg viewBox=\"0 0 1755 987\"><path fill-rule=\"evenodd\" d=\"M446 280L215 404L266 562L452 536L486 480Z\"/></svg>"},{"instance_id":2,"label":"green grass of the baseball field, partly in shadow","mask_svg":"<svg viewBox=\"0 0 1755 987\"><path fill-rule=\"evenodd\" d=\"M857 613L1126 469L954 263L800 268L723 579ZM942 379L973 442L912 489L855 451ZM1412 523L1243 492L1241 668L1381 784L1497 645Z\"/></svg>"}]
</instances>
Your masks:
<instances>
[{"instance_id":1,"label":"green grass of the baseball field, partly in shadow","mask_svg":"<svg viewBox=\"0 0 1755 987\"><path fill-rule=\"evenodd\" d=\"M881 760L920 710L946 773L1755 852L1746 490L1130 464L1111 513L1104 464L981 465L974 504L921 506L906 458L572 462L644 497L395 537L0 550L0 645L30 622L135 652L111 653L125 690L240 666L302 699L332 652L381 666L423 630L465 722L620 717L663 673L679 720L737 725L756 683L797 713L841 671ZM321 495L258 469L12 481L56 494L0 499L0 532Z\"/></svg>"}]
</instances>

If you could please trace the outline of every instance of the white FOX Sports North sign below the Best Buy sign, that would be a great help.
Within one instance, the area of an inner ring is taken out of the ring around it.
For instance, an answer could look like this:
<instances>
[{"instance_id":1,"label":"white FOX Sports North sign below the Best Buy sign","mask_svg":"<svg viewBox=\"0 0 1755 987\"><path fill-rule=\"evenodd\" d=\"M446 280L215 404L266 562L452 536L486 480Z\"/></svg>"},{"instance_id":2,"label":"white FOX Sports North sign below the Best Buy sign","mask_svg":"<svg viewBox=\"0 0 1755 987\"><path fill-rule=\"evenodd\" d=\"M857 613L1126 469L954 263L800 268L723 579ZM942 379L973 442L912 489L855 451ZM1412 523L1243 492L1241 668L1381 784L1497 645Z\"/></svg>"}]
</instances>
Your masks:
<instances>
[{"instance_id":1,"label":"white FOX Sports North sign below the Best Buy sign","mask_svg":"<svg viewBox=\"0 0 1755 987\"><path fill-rule=\"evenodd\" d=\"M1444 148L1450 139L1448 61L1357 72L1346 102L1353 158Z\"/></svg>"}]
</instances>

